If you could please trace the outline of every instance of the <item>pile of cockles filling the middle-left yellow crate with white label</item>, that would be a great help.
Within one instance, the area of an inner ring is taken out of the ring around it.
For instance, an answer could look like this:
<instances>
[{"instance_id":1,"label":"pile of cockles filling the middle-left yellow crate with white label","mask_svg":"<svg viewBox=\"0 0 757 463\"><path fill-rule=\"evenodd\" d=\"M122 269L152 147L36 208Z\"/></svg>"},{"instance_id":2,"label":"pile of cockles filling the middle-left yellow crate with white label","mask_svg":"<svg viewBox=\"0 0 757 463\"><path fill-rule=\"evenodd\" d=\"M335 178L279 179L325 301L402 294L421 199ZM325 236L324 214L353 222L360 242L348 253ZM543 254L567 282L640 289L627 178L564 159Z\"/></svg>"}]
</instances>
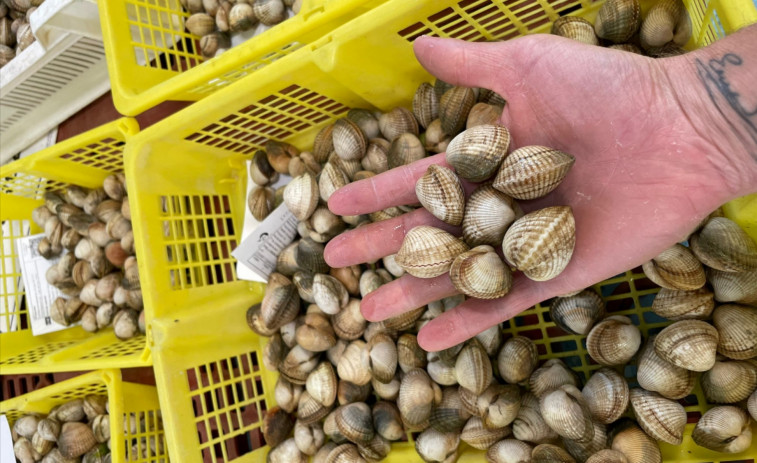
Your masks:
<instances>
[{"instance_id":1,"label":"pile of cockles filling the middle-left yellow crate with white label","mask_svg":"<svg viewBox=\"0 0 757 463\"><path fill-rule=\"evenodd\" d=\"M45 274L65 297L50 308L56 323L81 322L96 332L112 325L119 339L145 332L142 289L123 174L105 178L102 188L69 185L44 195L32 220L44 230L38 252L57 259Z\"/></svg>"}]
</instances>

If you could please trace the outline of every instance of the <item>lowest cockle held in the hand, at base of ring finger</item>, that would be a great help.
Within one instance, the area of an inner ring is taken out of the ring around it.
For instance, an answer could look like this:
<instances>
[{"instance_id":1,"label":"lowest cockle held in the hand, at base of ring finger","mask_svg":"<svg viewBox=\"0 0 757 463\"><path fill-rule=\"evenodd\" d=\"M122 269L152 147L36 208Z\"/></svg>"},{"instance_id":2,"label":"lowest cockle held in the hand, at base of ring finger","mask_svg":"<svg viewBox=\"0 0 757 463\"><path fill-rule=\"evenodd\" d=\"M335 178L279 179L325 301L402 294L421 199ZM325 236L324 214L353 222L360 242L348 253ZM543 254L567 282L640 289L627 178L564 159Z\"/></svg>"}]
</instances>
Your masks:
<instances>
[{"instance_id":1,"label":"lowest cockle held in the hand, at base of ring finger","mask_svg":"<svg viewBox=\"0 0 757 463\"><path fill-rule=\"evenodd\" d=\"M494 248L476 246L452 262L449 276L455 289L478 299L497 299L510 291L513 279Z\"/></svg>"}]
</instances>

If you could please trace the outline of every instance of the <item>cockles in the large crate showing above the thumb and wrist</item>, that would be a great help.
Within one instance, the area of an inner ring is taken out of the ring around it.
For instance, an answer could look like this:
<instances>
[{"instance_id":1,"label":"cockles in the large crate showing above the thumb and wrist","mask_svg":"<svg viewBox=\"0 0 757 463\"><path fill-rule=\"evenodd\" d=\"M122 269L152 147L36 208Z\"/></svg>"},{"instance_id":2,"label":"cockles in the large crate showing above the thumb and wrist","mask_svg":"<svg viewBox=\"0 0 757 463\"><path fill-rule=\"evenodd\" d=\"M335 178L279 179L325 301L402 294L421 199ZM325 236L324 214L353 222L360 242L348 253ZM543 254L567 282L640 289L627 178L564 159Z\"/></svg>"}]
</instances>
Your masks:
<instances>
[{"instance_id":1,"label":"cockles in the large crate showing above the thumb and wrist","mask_svg":"<svg viewBox=\"0 0 757 463\"><path fill-rule=\"evenodd\" d=\"M552 33L589 45L653 58L686 53L691 38L691 18L682 0L658 0L641 16L639 0L607 0L591 22L579 16L563 16L552 24Z\"/></svg>"}]
</instances>

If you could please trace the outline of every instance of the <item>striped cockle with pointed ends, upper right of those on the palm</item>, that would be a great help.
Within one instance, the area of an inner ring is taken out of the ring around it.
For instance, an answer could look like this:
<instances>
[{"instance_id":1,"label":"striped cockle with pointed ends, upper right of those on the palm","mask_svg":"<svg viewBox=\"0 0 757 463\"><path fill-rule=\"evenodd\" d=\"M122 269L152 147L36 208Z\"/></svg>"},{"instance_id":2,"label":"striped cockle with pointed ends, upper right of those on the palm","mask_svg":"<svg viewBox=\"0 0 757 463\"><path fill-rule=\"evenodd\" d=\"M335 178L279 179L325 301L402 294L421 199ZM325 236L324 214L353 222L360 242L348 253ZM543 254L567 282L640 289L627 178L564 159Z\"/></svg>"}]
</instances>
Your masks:
<instances>
[{"instance_id":1,"label":"striped cockle with pointed ends, upper right of those on the palm","mask_svg":"<svg viewBox=\"0 0 757 463\"><path fill-rule=\"evenodd\" d=\"M515 199L540 198L557 188L575 161L546 146L524 146L505 158L493 186Z\"/></svg>"}]
</instances>

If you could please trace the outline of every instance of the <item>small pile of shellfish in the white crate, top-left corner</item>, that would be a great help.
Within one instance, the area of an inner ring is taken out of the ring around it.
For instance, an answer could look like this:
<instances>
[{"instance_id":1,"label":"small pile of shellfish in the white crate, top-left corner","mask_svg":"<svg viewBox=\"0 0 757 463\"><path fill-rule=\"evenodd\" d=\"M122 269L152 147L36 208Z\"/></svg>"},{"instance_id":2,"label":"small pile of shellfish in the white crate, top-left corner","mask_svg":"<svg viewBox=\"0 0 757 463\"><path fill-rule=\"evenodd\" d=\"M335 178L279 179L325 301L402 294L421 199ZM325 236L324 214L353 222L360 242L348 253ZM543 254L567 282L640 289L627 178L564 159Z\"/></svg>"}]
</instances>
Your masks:
<instances>
[{"instance_id":1,"label":"small pile of shellfish in the white crate, top-left corner","mask_svg":"<svg viewBox=\"0 0 757 463\"><path fill-rule=\"evenodd\" d=\"M0 0L0 68L35 40L29 17L45 0Z\"/></svg>"}]
</instances>

